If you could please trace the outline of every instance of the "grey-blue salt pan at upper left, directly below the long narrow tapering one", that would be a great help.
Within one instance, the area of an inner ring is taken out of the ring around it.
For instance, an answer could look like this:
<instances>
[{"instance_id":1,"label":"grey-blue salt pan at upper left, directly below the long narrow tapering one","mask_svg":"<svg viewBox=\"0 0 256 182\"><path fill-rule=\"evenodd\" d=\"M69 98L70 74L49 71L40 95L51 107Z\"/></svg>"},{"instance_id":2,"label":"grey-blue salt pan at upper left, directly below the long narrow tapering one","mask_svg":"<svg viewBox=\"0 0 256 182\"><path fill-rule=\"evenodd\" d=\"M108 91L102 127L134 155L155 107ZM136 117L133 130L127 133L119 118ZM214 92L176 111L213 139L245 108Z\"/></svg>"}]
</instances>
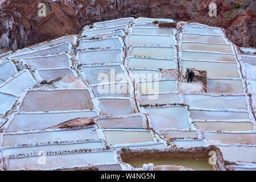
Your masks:
<instances>
[{"instance_id":1,"label":"grey-blue salt pan at upper left, directly below the long narrow tapering one","mask_svg":"<svg viewBox=\"0 0 256 182\"><path fill-rule=\"evenodd\" d=\"M64 68L70 67L69 56L66 53L54 56L30 57L23 59L32 69L38 68Z\"/></svg>"}]
</instances>

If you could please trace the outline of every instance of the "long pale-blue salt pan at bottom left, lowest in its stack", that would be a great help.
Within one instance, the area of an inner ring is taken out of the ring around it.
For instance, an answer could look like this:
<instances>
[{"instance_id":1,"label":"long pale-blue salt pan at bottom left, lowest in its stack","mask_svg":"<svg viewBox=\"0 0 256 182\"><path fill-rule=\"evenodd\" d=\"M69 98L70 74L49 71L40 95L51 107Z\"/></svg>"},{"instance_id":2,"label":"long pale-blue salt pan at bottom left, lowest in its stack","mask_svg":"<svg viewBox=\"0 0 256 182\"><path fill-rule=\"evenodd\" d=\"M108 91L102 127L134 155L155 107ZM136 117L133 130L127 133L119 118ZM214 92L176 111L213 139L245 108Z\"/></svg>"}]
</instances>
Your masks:
<instances>
[{"instance_id":1,"label":"long pale-blue salt pan at bottom left, lowest in its stack","mask_svg":"<svg viewBox=\"0 0 256 182\"><path fill-rule=\"evenodd\" d=\"M115 163L113 152L90 152L82 154L47 155L46 164L39 164L40 156L9 159L8 170L54 169L92 164Z\"/></svg>"}]
</instances>

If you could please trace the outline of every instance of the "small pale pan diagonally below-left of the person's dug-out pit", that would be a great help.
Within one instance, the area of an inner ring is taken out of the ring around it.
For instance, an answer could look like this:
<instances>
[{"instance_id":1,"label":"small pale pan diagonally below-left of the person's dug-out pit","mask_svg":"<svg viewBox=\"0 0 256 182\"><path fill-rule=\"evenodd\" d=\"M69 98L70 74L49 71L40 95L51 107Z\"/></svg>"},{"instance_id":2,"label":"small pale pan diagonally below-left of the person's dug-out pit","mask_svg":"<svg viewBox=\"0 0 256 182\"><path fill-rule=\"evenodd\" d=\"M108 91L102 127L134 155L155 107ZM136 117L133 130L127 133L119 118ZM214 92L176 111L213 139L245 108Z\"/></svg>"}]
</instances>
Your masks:
<instances>
[{"instance_id":1,"label":"small pale pan diagonally below-left of the person's dug-out pit","mask_svg":"<svg viewBox=\"0 0 256 182\"><path fill-rule=\"evenodd\" d=\"M179 94L158 94L158 95L142 95L139 99L141 105L155 104L180 104Z\"/></svg>"}]
</instances>

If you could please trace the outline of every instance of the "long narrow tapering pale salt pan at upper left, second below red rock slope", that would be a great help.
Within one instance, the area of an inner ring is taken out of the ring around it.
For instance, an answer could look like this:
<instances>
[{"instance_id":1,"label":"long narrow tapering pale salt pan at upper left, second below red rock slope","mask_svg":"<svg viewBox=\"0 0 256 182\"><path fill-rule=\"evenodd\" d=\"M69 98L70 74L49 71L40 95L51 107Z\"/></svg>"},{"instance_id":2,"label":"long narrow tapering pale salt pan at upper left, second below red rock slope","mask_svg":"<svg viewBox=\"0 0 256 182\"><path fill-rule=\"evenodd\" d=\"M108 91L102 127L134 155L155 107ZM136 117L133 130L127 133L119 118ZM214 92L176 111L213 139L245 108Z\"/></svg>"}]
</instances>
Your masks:
<instances>
[{"instance_id":1,"label":"long narrow tapering pale salt pan at upper left, second below red rock slope","mask_svg":"<svg viewBox=\"0 0 256 182\"><path fill-rule=\"evenodd\" d=\"M43 49L40 51L35 51L31 53L27 53L20 56L11 56L12 59L15 60L21 60L26 57L35 57L35 56L43 56L43 55L52 55L55 53L61 53L61 52L70 52L71 51L71 44L70 43L64 43L57 46L53 46L51 48Z\"/></svg>"}]
</instances>

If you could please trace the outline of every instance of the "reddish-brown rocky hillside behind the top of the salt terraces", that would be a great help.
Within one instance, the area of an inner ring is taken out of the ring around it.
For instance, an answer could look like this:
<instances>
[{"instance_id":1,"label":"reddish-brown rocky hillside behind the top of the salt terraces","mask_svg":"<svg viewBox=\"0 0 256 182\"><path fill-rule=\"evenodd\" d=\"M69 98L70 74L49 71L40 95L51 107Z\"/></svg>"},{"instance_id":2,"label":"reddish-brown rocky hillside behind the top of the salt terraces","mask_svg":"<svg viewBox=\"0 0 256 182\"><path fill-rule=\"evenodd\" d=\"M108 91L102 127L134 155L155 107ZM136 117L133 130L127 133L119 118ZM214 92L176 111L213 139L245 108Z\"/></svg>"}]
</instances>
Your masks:
<instances>
[{"instance_id":1,"label":"reddish-brown rocky hillside behind the top of the salt terraces","mask_svg":"<svg viewBox=\"0 0 256 182\"><path fill-rule=\"evenodd\" d=\"M49 3L53 13L37 20L39 3ZM85 24L147 16L171 18L222 27L229 40L240 47L256 47L256 2L216 0L217 16L210 17L211 0L6 0L0 3L0 49L13 50L76 34Z\"/></svg>"}]
</instances>

